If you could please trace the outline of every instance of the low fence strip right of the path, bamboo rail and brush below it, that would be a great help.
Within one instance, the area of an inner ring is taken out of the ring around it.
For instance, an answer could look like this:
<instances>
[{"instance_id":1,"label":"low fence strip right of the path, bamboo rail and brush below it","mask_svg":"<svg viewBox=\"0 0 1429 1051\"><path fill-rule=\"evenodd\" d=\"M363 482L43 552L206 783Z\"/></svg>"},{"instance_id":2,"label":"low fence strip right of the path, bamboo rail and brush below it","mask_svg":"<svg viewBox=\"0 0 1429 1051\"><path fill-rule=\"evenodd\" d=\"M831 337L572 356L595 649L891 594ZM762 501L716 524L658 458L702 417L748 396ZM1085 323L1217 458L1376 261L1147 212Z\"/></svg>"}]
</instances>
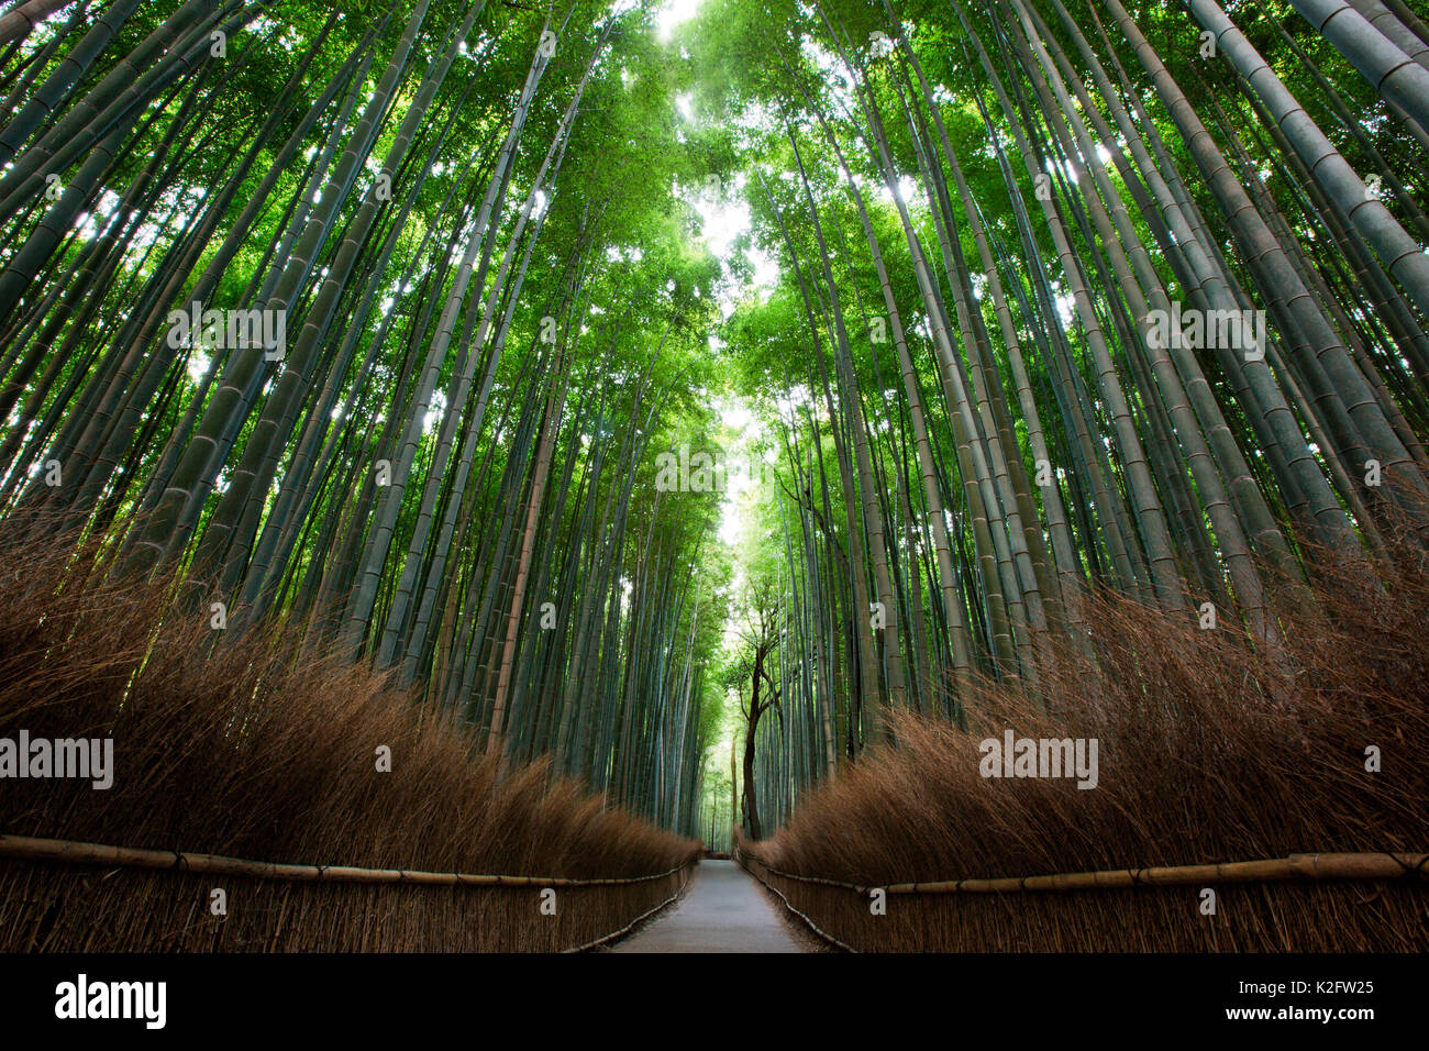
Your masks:
<instances>
[{"instance_id":1,"label":"low fence strip right of the path, bamboo rail and brush below it","mask_svg":"<svg viewBox=\"0 0 1429 1051\"><path fill-rule=\"evenodd\" d=\"M736 848L735 858L819 935L849 951L1429 948L1429 854L1420 852L1293 854L883 885L783 871L747 849ZM1332 885L1343 891L1329 891ZM1199 908L1203 894L1187 901L1173 888L1213 889L1219 908ZM876 912L873 891L910 901Z\"/></svg>"}]
</instances>

